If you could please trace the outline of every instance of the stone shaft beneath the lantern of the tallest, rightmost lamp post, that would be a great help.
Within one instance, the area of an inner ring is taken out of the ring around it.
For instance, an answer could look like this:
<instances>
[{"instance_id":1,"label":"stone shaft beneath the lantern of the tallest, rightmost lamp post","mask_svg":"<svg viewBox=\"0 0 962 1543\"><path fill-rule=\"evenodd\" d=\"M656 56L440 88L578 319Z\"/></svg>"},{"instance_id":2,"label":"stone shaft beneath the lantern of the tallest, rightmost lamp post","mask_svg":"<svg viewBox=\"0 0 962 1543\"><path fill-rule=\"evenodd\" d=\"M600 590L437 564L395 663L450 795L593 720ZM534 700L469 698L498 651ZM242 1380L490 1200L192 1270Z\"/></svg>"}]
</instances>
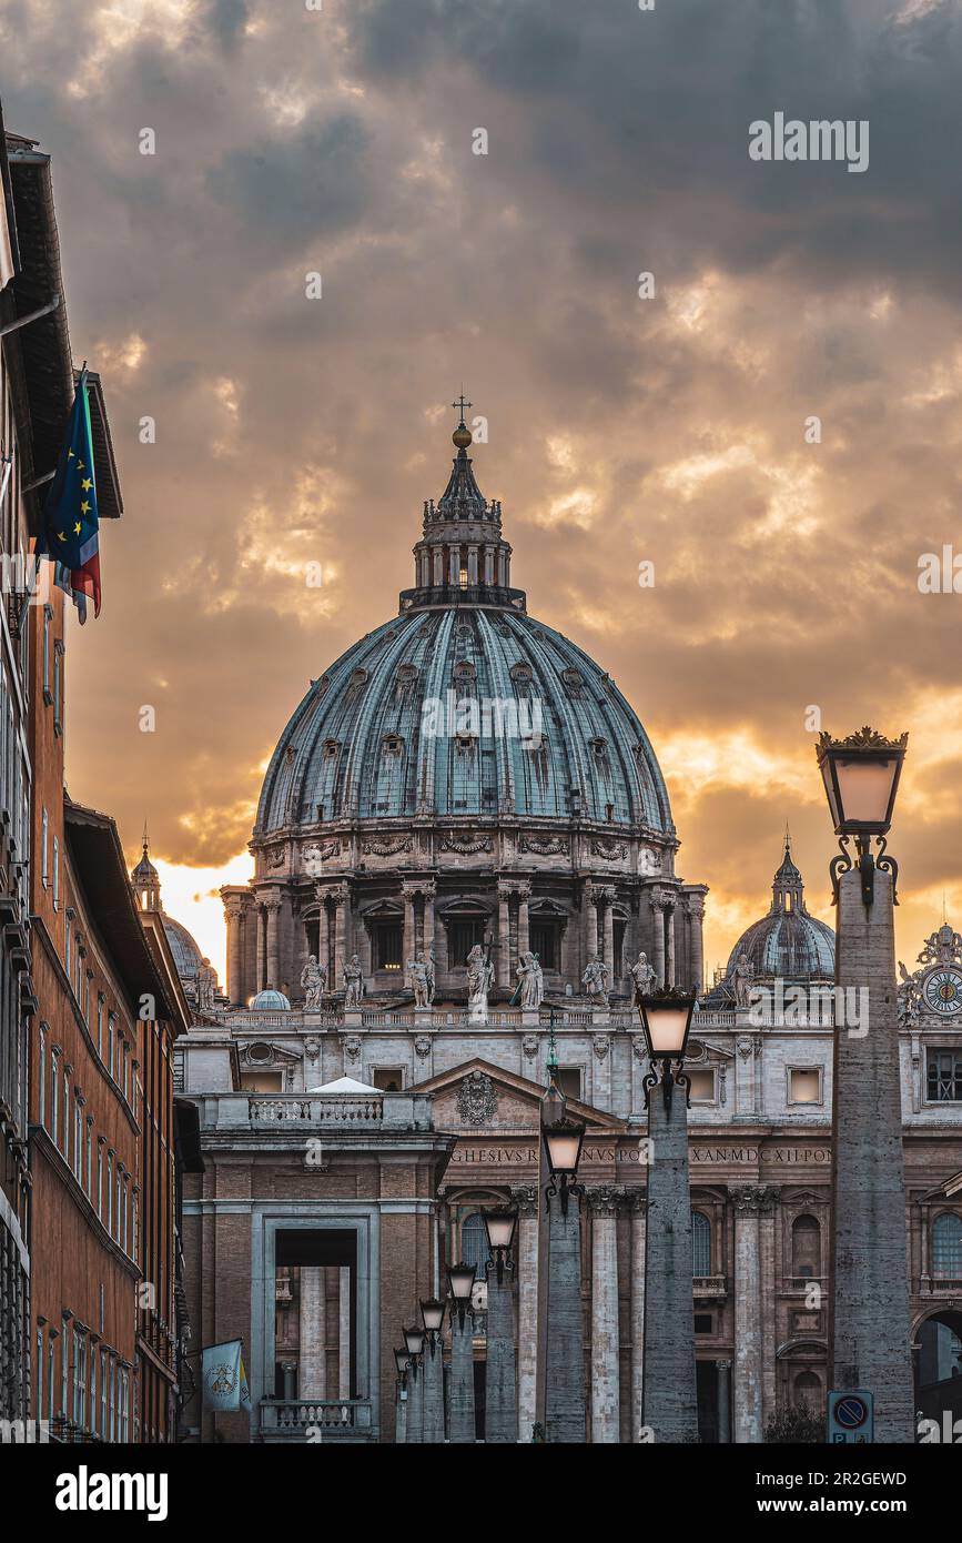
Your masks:
<instances>
[{"instance_id":1,"label":"stone shaft beneath the lantern of the tallest, rightmost lamp post","mask_svg":"<svg viewBox=\"0 0 962 1543\"><path fill-rule=\"evenodd\" d=\"M836 983L866 1003L836 1029L832 1071L832 1387L876 1395L876 1441L914 1441L891 873L862 901L840 875ZM859 992L865 995L859 997Z\"/></svg>"}]
</instances>

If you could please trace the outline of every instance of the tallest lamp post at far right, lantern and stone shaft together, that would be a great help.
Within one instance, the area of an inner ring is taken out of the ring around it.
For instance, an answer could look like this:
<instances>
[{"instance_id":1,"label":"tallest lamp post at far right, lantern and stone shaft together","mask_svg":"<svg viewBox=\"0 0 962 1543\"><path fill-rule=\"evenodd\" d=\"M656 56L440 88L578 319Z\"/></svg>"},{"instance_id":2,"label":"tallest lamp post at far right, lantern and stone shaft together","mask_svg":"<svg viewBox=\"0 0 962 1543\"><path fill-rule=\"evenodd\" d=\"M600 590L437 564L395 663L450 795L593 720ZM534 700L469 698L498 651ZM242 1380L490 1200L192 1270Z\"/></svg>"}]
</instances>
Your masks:
<instances>
[{"instance_id":1,"label":"tallest lamp post at far right, lantern and stone shaft together","mask_svg":"<svg viewBox=\"0 0 962 1543\"><path fill-rule=\"evenodd\" d=\"M886 856L908 734L823 733L819 768L839 836L832 1062L831 1379L874 1395L876 1441L914 1440L894 913ZM856 856L849 841L856 841ZM873 853L873 841L877 852ZM848 1004L859 1003L848 1021Z\"/></svg>"}]
</instances>

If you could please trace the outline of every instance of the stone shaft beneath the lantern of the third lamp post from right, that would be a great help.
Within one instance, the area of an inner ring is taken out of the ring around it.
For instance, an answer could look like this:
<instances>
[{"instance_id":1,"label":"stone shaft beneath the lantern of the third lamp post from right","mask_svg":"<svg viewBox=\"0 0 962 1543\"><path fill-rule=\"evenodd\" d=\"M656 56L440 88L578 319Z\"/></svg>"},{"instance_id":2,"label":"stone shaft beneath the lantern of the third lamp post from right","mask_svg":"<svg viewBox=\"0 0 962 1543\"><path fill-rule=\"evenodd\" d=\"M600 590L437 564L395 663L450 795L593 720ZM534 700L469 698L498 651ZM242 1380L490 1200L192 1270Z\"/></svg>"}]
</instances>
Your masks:
<instances>
[{"instance_id":1,"label":"stone shaft beneath the lantern of the third lamp post from right","mask_svg":"<svg viewBox=\"0 0 962 1543\"><path fill-rule=\"evenodd\" d=\"M552 1196L547 1258L547 1349L544 1429L549 1441L586 1441L584 1321L581 1315L581 1217L578 1196L567 1216Z\"/></svg>"}]
</instances>

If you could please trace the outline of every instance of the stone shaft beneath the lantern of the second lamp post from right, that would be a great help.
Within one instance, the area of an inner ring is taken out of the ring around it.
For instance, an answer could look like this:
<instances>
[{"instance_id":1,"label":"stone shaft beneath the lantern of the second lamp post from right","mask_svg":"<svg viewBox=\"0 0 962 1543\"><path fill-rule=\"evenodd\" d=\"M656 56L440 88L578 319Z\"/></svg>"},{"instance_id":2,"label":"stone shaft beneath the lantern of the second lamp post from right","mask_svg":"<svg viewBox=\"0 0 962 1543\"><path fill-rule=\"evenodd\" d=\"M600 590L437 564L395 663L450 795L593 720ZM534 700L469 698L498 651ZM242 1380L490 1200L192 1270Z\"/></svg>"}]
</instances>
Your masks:
<instances>
[{"instance_id":1,"label":"stone shaft beneath the lantern of the second lamp post from right","mask_svg":"<svg viewBox=\"0 0 962 1543\"><path fill-rule=\"evenodd\" d=\"M686 1089L671 1114L661 1085L648 1105L648 1234L644 1241L644 1424L657 1443L695 1441L695 1302L688 1187Z\"/></svg>"}]
</instances>

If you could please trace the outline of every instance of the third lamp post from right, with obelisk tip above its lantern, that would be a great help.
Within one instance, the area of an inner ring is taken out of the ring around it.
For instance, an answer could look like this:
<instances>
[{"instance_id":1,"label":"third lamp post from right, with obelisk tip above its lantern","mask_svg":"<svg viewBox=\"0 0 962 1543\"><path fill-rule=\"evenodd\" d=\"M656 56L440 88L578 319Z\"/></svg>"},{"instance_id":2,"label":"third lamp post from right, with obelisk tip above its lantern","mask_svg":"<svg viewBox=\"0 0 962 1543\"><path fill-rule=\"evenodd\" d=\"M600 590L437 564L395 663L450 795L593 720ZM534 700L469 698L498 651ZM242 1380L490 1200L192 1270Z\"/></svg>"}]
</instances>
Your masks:
<instances>
[{"instance_id":1,"label":"third lamp post from right, with obelisk tip above its lantern","mask_svg":"<svg viewBox=\"0 0 962 1543\"><path fill-rule=\"evenodd\" d=\"M541 1139L547 1160L547 1338L544 1366L544 1426L547 1441L584 1443L584 1316L581 1312L581 1213L577 1197L584 1122L567 1114L549 1058L549 1088L541 1099ZM569 1214L570 1196L574 1214Z\"/></svg>"}]
</instances>

